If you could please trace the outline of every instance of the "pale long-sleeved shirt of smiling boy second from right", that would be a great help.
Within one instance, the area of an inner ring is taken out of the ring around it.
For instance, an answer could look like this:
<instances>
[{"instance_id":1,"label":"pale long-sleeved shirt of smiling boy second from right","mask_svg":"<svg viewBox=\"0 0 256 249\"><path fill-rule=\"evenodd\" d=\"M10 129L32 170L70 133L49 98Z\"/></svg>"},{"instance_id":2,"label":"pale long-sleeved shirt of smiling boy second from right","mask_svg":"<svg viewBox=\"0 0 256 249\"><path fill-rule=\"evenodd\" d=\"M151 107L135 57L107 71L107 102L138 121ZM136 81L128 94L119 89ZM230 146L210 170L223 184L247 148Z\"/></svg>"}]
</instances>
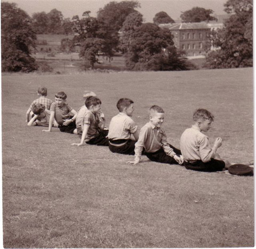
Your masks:
<instances>
[{"instance_id":1,"label":"pale long-sleeved shirt of smiling boy second from right","mask_svg":"<svg viewBox=\"0 0 256 249\"><path fill-rule=\"evenodd\" d=\"M143 148L146 152L154 153L161 148L164 152L173 157L176 153L167 143L167 137L163 129L157 128L153 123L148 122L140 129L139 139L135 144L135 160L140 160Z\"/></svg>"}]
</instances>

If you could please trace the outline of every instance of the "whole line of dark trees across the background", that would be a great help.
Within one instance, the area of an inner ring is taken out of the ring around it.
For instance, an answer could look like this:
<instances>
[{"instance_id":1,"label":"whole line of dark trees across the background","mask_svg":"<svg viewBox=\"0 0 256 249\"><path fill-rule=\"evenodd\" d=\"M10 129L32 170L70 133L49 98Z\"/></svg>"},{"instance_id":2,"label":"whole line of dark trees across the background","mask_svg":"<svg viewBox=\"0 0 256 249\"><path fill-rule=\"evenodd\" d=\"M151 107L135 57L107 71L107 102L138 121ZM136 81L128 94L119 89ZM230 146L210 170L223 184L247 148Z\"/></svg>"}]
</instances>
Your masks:
<instances>
[{"instance_id":1,"label":"whole line of dark trees across the background","mask_svg":"<svg viewBox=\"0 0 256 249\"><path fill-rule=\"evenodd\" d=\"M38 64L31 57L36 34L73 34L73 39L62 40L61 46L72 51L80 46L79 56L84 68L94 68L99 54L111 60L122 52L129 70L190 70L195 69L173 42L161 23L174 23L165 12L155 15L153 23L143 23L137 11L138 1L110 2L97 12L97 17L85 11L64 19L60 11L34 13L32 17L14 3L1 4L2 71L36 70ZM212 32L206 55L207 68L252 66L252 0L228 0L225 11L232 13L223 29ZM183 12L183 22L209 22L215 20L212 10L200 7Z\"/></svg>"}]
</instances>

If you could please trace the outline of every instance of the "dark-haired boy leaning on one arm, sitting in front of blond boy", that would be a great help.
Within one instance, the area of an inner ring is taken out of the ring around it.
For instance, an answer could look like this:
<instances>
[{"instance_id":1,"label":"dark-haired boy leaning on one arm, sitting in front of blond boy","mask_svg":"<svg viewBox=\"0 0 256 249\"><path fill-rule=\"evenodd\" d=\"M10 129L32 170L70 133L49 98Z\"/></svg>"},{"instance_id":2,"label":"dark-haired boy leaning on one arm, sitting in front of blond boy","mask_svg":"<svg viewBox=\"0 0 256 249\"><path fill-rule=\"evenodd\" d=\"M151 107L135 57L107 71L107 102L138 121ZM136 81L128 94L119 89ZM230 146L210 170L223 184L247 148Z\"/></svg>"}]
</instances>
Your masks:
<instances>
[{"instance_id":1,"label":"dark-haired boy leaning on one arm, sitting in front of blond boy","mask_svg":"<svg viewBox=\"0 0 256 249\"><path fill-rule=\"evenodd\" d=\"M82 146L85 140L86 144L108 146L108 130L104 130L105 122L102 123L99 119L100 99L90 96L86 99L85 105L88 110L83 117L81 142L71 145Z\"/></svg>"}]
</instances>

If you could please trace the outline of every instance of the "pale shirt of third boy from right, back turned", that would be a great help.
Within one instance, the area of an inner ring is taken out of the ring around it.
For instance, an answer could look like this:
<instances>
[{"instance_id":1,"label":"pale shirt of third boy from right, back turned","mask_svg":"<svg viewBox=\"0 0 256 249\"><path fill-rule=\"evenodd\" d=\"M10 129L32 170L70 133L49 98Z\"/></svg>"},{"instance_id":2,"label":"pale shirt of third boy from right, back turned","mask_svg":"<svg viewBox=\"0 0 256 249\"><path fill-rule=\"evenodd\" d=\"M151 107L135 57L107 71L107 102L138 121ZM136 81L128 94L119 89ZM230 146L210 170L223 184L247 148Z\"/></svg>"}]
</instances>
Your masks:
<instances>
[{"instance_id":1,"label":"pale shirt of third boy from right, back turned","mask_svg":"<svg viewBox=\"0 0 256 249\"><path fill-rule=\"evenodd\" d=\"M138 126L125 113L120 112L109 123L108 138L111 140L130 139L131 134L137 131Z\"/></svg>"}]
</instances>

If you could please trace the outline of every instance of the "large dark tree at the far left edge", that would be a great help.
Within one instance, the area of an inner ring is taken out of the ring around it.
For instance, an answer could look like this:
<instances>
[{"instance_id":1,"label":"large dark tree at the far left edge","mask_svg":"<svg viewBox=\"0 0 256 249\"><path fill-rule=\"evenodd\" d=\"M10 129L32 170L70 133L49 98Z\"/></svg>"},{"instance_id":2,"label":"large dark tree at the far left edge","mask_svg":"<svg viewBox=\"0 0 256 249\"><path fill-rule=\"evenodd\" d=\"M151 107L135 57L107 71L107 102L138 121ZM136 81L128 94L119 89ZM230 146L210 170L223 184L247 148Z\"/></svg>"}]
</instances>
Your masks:
<instances>
[{"instance_id":1,"label":"large dark tree at the far left edge","mask_svg":"<svg viewBox=\"0 0 256 249\"><path fill-rule=\"evenodd\" d=\"M31 57L36 34L29 15L14 3L1 3L2 71L30 72L38 68Z\"/></svg>"}]
</instances>

